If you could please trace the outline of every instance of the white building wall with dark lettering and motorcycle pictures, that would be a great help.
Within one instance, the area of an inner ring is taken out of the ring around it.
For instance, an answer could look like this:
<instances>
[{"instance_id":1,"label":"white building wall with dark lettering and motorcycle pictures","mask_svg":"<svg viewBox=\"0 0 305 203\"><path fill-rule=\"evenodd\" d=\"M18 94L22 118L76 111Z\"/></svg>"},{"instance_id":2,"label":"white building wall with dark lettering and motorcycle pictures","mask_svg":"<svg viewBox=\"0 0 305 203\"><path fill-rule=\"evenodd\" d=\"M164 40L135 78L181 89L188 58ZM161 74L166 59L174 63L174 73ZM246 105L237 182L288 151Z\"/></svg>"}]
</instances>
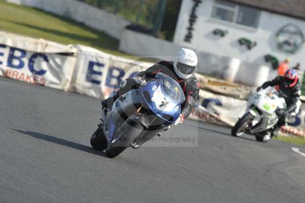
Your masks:
<instances>
[{"instance_id":1,"label":"white building wall with dark lettering and motorcycle pictures","mask_svg":"<svg viewBox=\"0 0 305 203\"><path fill-rule=\"evenodd\" d=\"M288 56L291 59L291 66L300 62L301 69L305 69L302 68L302 65L305 66L305 57L303 57L305 47L301 47L295 54L289 54L277 48L275 39L277 32L288 23L297 25L305 33L305 21L261 11L258 28L247 27L212 18L211 12L214 0L203 0L196 11L198 18L193 26L195 30L193 31L192 42L189 43L185 42L184 38L188 32L189 16L193 5L193 0L184 0L181 5L174 37L175 44L212 54L237 57L242 61L259 65L266 64L263 58L266 54L275 55L280 61ZM227 30L229 33L224 38L214 36L212 31L217 28ZM246 46L240 46L237 42L242 37L256 41L258 45L248 50Z\"/></svg>"}]
</instances>

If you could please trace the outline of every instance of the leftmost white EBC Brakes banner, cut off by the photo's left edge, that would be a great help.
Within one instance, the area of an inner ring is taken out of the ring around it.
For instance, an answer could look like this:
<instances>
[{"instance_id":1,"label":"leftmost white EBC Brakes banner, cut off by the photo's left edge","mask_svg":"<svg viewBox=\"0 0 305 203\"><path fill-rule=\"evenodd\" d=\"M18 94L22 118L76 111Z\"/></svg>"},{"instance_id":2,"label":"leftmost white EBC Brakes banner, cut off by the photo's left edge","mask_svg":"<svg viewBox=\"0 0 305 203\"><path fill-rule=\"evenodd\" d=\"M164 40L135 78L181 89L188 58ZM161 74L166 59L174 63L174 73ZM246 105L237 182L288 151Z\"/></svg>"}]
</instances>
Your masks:
<instances>
[{"instance_id":1,"label":"leftmost white EBC Brakes banner, cut off by the photo's left edge","mask_svg":"<svg viewBox=\"0 0 305 203\"><path fill-rule=\"evenodd\" d=\"M75 66L72 46L1 34L0 76L68 91Z\"/></svg>"}]
</instances>

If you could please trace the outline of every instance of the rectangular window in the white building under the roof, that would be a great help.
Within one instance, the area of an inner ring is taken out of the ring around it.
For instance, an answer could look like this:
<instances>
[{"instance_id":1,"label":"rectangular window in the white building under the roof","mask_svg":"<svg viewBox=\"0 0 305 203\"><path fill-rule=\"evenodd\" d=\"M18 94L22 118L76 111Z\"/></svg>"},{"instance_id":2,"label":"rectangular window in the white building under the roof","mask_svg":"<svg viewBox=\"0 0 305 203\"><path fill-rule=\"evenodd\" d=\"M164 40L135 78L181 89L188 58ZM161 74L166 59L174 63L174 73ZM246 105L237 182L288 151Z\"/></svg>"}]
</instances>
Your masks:
<instances>
[{"instance_id":1,"label":"rectangular window in the white building under the roof","mask_svg":"<svg viewBox=\"0 0 305 203\"><path fill-rule=\"evenodd\" d=\"M257 27L260 12L257 9L216 0L212 17L249 27Z\"/></svg>"}]
</instances>

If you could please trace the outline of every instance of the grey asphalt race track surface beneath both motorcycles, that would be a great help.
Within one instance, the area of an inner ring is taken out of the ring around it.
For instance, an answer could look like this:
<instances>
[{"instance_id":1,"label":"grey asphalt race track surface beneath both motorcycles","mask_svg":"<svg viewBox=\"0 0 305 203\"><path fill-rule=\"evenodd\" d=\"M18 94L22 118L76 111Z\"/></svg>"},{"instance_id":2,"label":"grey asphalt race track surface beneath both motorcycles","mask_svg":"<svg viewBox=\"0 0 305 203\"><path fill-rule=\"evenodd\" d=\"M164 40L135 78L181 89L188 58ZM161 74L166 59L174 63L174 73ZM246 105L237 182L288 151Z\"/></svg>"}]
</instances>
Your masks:
<instances>
[{"instance_id":1,"label":"grey asphalt race track surface beneath both motorcycles","mask_svg":"<svg viewBox=\"0 0 305 203\"><path fill-rule=\"evenodd\" d=\"M99 100L0 79L0 202L305 202L305 157L186 121L198 147L90 148ZM198 128L196 127L198 126Z\"/></svg>"}]
</instances>

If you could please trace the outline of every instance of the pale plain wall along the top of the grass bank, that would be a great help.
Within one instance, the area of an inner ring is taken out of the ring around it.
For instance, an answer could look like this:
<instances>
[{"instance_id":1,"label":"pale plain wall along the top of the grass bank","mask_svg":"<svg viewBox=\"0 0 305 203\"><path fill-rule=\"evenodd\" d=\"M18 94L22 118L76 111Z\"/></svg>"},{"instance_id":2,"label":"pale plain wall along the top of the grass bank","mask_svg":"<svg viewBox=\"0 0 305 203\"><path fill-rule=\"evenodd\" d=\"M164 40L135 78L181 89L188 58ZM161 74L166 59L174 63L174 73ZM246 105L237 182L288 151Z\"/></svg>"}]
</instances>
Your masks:
<instances>
[{"instance_id":1,"label":"pale plain wall along the top of the grass bank","mask_svg":"<svg viewBox=\"0 0 305 203\"><path fill-rule=\"evenodd\" d=\"M108 13L102 9L75 0L6 0L9 3L35 7L65 16L84 23L85 25L103 31L120 39L127 25L131 22L123 17Z\"/></svg>"}]
</instances>

